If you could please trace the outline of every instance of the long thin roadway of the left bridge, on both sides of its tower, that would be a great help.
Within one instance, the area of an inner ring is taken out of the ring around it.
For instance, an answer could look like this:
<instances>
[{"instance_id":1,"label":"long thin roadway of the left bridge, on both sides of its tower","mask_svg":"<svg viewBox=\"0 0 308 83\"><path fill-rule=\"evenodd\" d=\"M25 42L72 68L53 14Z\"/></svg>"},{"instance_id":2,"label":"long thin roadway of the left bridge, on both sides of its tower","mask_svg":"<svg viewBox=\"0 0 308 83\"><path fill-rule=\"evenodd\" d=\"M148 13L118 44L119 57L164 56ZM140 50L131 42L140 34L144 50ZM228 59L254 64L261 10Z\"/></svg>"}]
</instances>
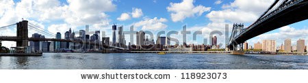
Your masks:
<instances>
[{"instance_id":1,"label":"long thin roadway of the left bridge, on both sides of its tower","mask_svg":"<svg viewBox=\"0 0 308 83\"><path fill-rule=\"evenodd\" d=\"M21 41L23 39L18 38L16 36L0 36L1 41ZM29 41L66 41L66 42L74 42L74 43L79 43L79 44L90 44L94 46L99 46L99 43L92 42L92 41L81 41L78 39L71 40L71 39L55 39L55 38L34 38L34 37L29 37ZM101 45L104 48L115 48L115 49L120 49L120 50L127 50L126 48L120 48L116 46L107 46L107 45Z\"/></svg>"}]
</instances>

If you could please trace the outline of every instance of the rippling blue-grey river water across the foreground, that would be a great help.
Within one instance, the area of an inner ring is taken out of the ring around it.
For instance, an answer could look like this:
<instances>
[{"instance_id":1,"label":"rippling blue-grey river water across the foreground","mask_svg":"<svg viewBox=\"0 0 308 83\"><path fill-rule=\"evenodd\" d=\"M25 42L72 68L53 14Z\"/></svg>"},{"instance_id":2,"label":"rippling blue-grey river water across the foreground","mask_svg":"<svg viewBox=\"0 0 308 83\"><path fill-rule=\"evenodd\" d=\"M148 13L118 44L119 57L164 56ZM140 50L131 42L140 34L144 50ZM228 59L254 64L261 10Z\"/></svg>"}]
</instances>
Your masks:
<instances>
[{"instance_id":1,"label":"rippling blue-grey river water across the foreground","mask_svg":"<svg viewBox=\"0 0 308 83\"><path fill-rule=\"evenodd\" d=\"M0 56L0 69L308 69L308 56L43 53Z\"/></svg>"}]
</instances>

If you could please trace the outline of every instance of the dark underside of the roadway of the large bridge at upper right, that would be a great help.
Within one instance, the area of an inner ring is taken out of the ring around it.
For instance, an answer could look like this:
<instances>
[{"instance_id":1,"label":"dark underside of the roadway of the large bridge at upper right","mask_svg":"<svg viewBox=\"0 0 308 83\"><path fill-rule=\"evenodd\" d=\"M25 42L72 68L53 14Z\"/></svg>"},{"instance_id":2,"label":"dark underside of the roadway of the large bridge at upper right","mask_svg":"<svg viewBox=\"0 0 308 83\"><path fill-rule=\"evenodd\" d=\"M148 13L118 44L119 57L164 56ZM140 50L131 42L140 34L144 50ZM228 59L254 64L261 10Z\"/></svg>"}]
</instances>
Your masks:
<instances>
[{"instance_id":1,"label":"dark underside of the roadway of the large bridge at upper right","mask_svg":"<svg viewBox=\"0 0 308 83\"><path fill-rule=\"evenodd\" d=\"M244 41L268 31L308 19L308 0L294 0L289 4L277 8L277 10L251 24L245 31L229 42L229 47L233 46L233 44L244 43Z\"/></svg>"}]
</instances>

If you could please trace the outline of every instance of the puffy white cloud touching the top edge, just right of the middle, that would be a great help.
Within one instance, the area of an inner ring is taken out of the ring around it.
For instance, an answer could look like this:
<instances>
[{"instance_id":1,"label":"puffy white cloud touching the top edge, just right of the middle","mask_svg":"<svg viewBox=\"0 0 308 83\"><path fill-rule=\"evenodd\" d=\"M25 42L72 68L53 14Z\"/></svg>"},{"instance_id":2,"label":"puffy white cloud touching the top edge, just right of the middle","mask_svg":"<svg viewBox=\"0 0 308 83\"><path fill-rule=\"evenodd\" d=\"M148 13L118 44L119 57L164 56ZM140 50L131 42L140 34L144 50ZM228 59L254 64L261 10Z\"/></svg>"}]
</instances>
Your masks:
<instances>
[{"instance_id":1,"label":"puffy white cloud touching the top edge, just right of the middle","mask_svg":"<svg viewBox=\"0 0 308 83\"><path fill-rule=\"evenodd\" d=\"M194 0L183 0L181 3L170 3L166 9L170 14L173 22L183 21L185 18L193 16L201 16L203 12L207 12L211 7L203 5L195 6Z\"/></svg>"}]
</instances>

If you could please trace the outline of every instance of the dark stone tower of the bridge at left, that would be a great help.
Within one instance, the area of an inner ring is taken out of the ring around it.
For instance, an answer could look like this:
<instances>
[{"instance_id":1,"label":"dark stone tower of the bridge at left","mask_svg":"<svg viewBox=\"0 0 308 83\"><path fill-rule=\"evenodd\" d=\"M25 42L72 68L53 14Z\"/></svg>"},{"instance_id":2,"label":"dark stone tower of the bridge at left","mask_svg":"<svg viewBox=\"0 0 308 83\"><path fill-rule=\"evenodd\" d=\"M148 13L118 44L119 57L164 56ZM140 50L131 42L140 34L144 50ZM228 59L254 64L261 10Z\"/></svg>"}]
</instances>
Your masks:
<instances>
[{"instance_id":1,"label":"dark stone tower of the bridge at left","mask_svg":"<svg viewBox=\"0 0 308 83\"><path fill-rule=\"evenodd\" d=\"M16 49L16 52L24 53L26 48L29 46L28 21L23 20L22 22L17 22L16 25L16 37L21 39L16 41L16 47L18 47L18 49Z\"/></svg>"}]
</instances>

